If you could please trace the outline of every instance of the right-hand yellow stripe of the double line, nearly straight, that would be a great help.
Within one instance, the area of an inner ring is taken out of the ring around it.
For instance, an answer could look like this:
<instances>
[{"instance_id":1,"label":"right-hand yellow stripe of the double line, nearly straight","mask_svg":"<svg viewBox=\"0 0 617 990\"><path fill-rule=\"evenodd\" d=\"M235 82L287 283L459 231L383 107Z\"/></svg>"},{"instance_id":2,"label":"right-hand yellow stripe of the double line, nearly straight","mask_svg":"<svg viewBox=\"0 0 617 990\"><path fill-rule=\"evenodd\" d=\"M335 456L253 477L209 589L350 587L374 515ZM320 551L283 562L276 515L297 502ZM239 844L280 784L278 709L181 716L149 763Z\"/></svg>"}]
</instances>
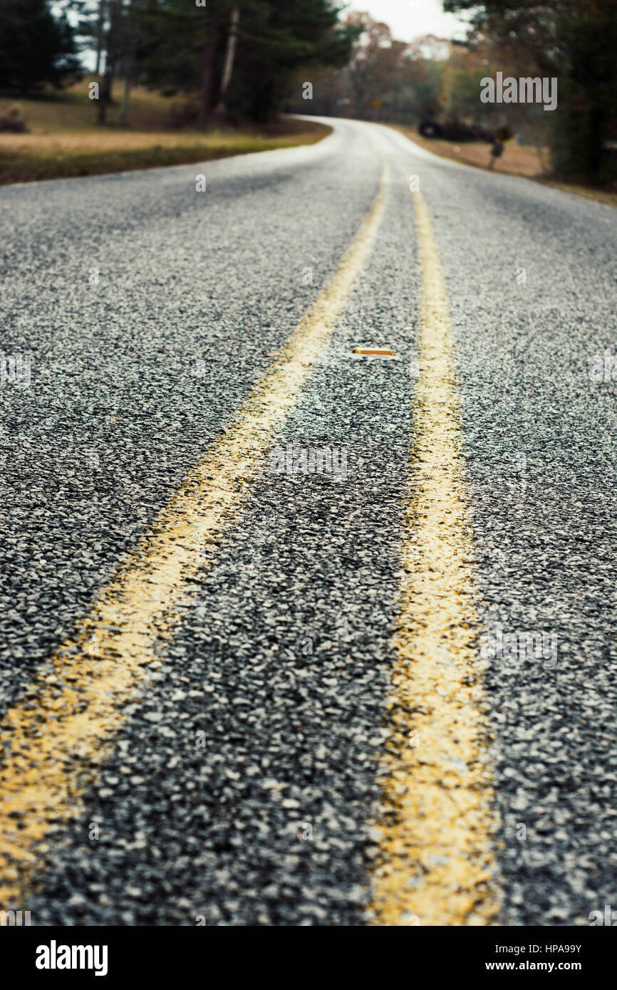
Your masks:
<instances>
[{"instance_id":1,"label":"right-hand yellow stripe of the double line, nearly straight","mask_svg":"<svg viewBox=\"0 0 617 990\"><path fill-rule=\"evenodd\" d=\"M412 194L420 252L419 379L405 506L381 840L371 923L496 924L496 829L446 281Z\"/></svg>"}]
</instances>

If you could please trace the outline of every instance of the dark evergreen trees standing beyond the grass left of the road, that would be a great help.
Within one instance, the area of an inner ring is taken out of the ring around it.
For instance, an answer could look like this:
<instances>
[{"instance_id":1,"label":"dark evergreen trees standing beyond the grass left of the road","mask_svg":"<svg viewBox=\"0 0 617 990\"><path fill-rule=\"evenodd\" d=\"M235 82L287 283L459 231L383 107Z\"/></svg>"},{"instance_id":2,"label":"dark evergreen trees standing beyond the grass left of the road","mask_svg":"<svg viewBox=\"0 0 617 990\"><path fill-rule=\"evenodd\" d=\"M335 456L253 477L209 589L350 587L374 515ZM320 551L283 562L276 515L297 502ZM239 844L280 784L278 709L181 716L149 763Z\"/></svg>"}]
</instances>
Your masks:
<instances>
[{"instance_id":1,"label":"dark evergreen trees standing beyond the grass left of the road","mask_svg":"<svg viewBox=\"0 0 617 990\"><path fill-rule=\"evenodd\" d=\"M299 65L343 65L354 31L331 0L20 0L0 5L0 88L30 93L78 71L95 53L98 119L122 79L131 87L196 94L194 123L273 120ZM53 12L52 12L53 10Z\"/></svg>"}]
</instances>

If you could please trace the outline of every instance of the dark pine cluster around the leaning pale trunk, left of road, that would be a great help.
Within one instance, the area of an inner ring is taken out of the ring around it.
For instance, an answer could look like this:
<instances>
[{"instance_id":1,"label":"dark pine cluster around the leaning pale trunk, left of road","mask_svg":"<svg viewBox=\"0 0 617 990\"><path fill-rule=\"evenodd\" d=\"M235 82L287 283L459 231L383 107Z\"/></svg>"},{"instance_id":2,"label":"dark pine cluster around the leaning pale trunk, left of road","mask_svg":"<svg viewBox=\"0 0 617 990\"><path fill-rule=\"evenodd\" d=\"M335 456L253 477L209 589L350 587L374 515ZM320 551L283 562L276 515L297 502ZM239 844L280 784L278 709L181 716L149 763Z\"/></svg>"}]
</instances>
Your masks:
<instances>
[{"instance_id":1,"label":"dark pine cluster around the leaning pale trunk, left of road","mask_svg":"<svg viewBox=\"0 0 617 990\"><path fill-rule=\"evenodd\" d=\"M100 0L73 0L83 9L82 31L99 34ZM237 10L236 48L222 93ZM280 109L299 66L341 65L353 32L339 23L331 0L107 0L106 72L127 67L157 89L199 92L198 123L205 127L225 95L228 115L266 122Z\"/></svg>"}]
</instances>

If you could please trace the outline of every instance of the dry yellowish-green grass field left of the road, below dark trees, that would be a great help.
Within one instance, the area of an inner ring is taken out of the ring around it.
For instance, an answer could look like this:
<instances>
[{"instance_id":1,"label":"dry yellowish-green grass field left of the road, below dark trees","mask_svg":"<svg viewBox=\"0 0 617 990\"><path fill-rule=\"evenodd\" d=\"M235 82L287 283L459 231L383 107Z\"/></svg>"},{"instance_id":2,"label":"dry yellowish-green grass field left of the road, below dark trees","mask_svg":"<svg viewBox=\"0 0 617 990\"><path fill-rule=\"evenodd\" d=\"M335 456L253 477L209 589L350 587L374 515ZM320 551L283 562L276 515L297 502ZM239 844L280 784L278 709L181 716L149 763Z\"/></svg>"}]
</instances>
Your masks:
<instances>
[{"instance_id":1,"label":"dry yellowish-green grass field left of the road, below dark trees","mask_svg":"<svg viewBox=\"0 0 617 990\"><path fill-rule=\"evenodd\" d=\"M109 123L96 125L97 104L87 95L88 80L55 98L4 100L20 108L28 134L0 134L0 183L29 182L206 161L231 154L291 148L320 141L329 128L285 121L262 129L212 130L207 134L172 126L172 106L188 98L164 98L143 87L131 96L128 126L117 123L121 87L114 94Z\"/></svg>"}]
</instances>

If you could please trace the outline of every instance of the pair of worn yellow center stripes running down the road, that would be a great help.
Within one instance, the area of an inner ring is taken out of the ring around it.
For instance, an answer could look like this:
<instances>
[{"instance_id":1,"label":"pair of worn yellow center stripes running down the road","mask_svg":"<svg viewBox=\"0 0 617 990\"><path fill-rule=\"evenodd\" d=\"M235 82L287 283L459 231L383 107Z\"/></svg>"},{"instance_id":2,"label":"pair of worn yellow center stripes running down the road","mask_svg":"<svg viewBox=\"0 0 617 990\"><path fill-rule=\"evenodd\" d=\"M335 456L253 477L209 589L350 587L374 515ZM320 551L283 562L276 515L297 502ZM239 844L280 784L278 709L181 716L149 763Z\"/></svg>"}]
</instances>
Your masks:
<instances>
[{"instance_id":1,"label":"pair of worn yellow center stripes running down the road","mask_svg":"<svg viewBox=\"0 0 617 990\"><path fill-rule=\"evenodd\" d=\"M51 669L0 726L0 908L20 906L49 851L51 824L81 814L83 789L122 724L121 705L180 621L191 578L238 521L276 431L347 305L386 194L384 173L330 284ZM384 758L391 824L383 829L373 918L379 925L486 924L496 910L492 823L452 335L438 249L424 201L414 197L424 287L420 380Z\"/></svg>"}]
</instances>

